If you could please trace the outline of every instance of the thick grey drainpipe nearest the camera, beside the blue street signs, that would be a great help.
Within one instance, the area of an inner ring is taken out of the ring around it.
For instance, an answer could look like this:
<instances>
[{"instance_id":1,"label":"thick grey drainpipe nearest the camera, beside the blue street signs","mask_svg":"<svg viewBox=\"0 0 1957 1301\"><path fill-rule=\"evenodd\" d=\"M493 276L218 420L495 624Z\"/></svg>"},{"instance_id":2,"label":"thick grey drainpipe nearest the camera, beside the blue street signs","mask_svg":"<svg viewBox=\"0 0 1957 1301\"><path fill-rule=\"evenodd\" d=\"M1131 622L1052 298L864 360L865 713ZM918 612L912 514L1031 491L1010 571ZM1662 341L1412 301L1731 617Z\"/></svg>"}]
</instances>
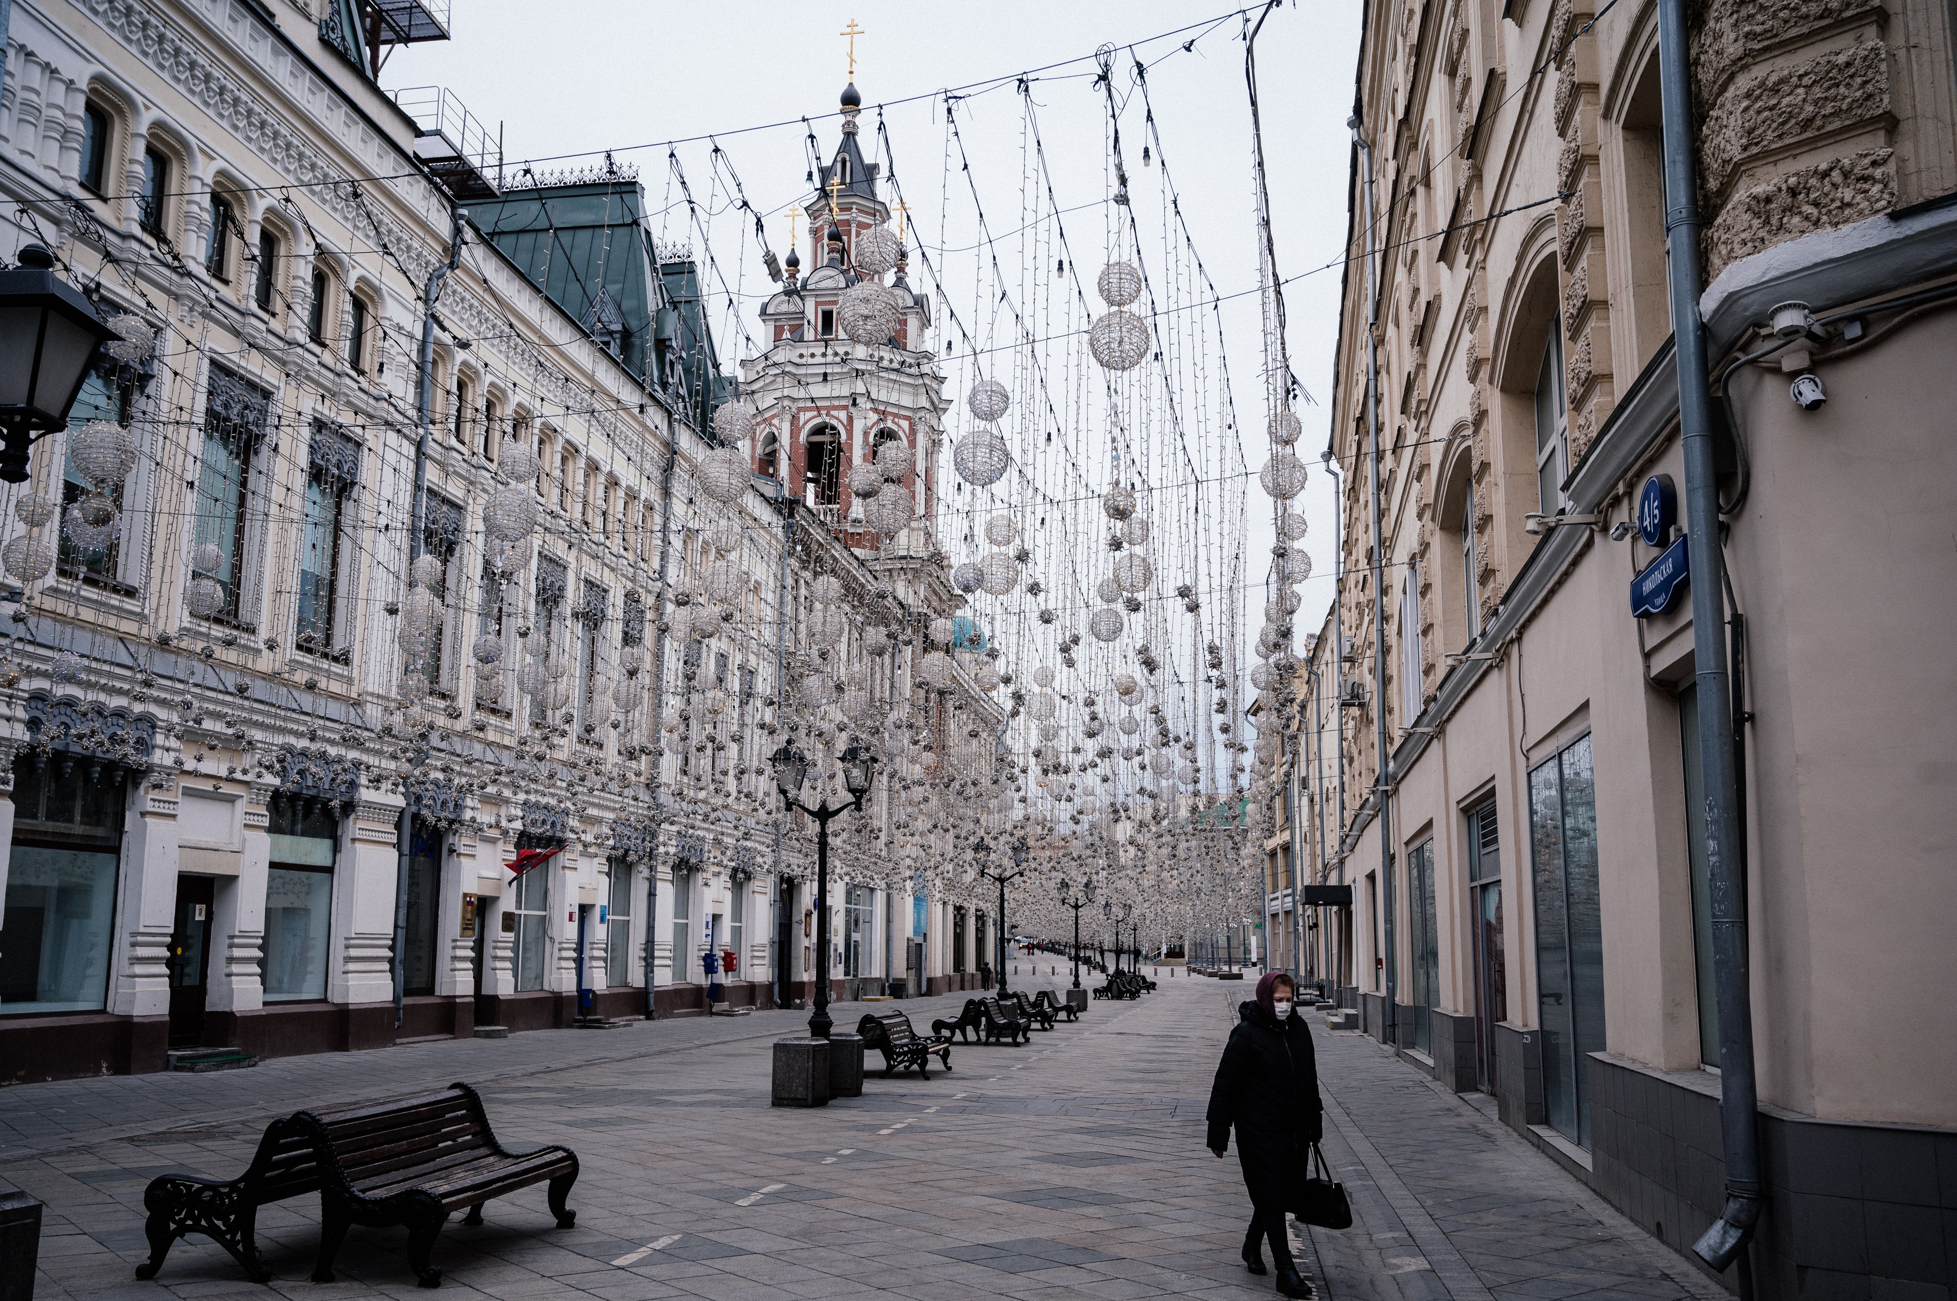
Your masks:
<instances>
[{"instance_id":1,"label":"thick grey drainpipe nearest the camera, beside the blue street signs","mask_svg":"<svg viewBox=\"0 0 1957 1301\"><path fill-rule=\"evenodd\" d=\"M1699 293L1699 168L1693 158L1693 100L1685 0L1658 4L1658 78L1665 117L1665 248L1671 278L1671 336L1677 344L1679 428L1685 444L1685 534L1691 538L1693 679L1699 689L1699 763L1707 788L1707 863L1712 886L1712 982L1718 994L1720 1139L1726 1209L1693 1244L1714 1270L1740 1258L1759 1221L1759 1096L1753 1080L1753 1008L1746 941L1746 855L1740 839L1732 681L1726 669L1724 567L1718 481L1712 460L1712 397L1707 389L1705 321Z\"/></svg>"}]
</instances>

